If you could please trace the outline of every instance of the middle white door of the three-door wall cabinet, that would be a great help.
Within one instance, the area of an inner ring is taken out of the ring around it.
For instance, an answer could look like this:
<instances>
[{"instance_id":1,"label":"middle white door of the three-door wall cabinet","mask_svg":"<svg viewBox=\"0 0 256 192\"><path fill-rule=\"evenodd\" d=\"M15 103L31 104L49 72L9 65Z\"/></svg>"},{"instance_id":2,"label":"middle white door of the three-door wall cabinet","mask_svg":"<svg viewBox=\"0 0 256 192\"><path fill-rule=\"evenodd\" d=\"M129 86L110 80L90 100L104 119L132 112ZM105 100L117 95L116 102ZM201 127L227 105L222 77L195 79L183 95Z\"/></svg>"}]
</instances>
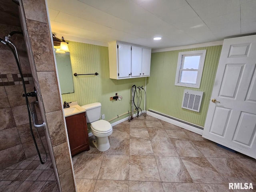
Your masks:
<instances>
[{"instance_id":1,"label":"middle white door of the three-door wall cabinet","mask_svg":"<svg viewBox=\"0 0 256 192\"><path fill-rule=\"evenodd\" d=\"M141 75L142 47L132 46L132 77Z\"/></svg>"}]
</instances>

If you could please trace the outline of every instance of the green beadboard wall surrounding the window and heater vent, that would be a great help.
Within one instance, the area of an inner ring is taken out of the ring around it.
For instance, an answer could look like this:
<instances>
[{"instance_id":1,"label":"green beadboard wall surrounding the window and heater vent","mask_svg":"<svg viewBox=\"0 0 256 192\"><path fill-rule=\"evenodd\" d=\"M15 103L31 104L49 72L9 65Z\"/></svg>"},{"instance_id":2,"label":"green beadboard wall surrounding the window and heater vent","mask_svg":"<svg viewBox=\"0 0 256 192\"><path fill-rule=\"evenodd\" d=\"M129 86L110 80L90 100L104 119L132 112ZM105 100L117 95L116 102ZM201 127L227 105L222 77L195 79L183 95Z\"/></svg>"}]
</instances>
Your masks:
<instances>
[{"instance_id":1,"label":"green beadboard wall surrounding the window and heater vent","mask_svg":"<svg viewBox=\"0 0 256 192\"><path fill-rule=\"evenodd\" d=\"M174 86L178 53L202 49L207 51L200 89ZM147 78L147 109L204 126L221 49L222 46L211 46L152 53L150 77ZM199 113L181 108L184 89L204 92Z\"/></svg>"}]
</instances>

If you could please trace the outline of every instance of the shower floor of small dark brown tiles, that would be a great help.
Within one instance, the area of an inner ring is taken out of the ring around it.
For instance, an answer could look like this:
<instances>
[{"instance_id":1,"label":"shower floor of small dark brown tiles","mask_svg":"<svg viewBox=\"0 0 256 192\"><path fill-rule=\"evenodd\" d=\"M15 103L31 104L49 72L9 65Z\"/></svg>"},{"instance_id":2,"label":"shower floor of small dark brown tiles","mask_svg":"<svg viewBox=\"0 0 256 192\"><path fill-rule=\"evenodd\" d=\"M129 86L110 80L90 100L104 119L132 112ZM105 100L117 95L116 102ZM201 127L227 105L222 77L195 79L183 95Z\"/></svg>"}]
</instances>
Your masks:
<instances>
[{"instance_id":1,"label":"shower floor of small dark brown tiles","mask_svg":"<svg viewBox=\"0 0 256 192\"><path fill-rule=\"evenodd\" d=\"M0 192L58 191L49 155L45 164L34 156L0 170Z\"/></svg>"}]
</instances>

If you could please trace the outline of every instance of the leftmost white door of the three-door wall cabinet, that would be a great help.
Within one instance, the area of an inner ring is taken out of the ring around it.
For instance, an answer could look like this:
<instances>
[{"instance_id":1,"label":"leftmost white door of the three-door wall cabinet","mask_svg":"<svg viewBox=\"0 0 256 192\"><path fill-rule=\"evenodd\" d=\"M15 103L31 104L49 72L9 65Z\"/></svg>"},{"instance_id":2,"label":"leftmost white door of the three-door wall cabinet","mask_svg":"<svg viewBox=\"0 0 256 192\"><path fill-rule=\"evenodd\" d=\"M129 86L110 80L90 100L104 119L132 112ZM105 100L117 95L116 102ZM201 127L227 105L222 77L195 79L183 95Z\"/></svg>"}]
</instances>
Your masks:
<instances>
[{"instance_id":1,"label":"leftmost white door of the three-door wall cabinet","mask_svg":"<svg viewBox=\"0 0 256 192\"><path fill-rule=\"evenodd\" d=\"M118 43L118 78L131 75L131 46Z\"/></svg>"}]
</instances>

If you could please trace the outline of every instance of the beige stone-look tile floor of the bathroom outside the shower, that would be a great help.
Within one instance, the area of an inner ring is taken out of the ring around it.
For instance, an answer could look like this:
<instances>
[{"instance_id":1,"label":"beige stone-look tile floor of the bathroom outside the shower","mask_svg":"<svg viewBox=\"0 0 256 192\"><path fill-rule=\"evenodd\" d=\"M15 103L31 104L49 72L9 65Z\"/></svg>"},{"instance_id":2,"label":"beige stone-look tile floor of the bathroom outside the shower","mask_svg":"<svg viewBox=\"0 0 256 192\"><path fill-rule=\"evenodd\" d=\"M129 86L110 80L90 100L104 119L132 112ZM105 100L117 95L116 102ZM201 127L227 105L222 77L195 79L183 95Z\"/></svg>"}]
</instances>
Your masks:
<instances>
[{"instance_id":1,"label":"beige stone-look tile floor of the bathroom outside the shower","mask_svg":"<svg viewBox=\"0 0 256 192\"><path fill-rule=\"evenodd\" d=\"M106 152L92 139L72 158L78 192L232 192L229 182L256 191L256 160L152 116L114 126Z\"/></svg>"}]
</instances>

